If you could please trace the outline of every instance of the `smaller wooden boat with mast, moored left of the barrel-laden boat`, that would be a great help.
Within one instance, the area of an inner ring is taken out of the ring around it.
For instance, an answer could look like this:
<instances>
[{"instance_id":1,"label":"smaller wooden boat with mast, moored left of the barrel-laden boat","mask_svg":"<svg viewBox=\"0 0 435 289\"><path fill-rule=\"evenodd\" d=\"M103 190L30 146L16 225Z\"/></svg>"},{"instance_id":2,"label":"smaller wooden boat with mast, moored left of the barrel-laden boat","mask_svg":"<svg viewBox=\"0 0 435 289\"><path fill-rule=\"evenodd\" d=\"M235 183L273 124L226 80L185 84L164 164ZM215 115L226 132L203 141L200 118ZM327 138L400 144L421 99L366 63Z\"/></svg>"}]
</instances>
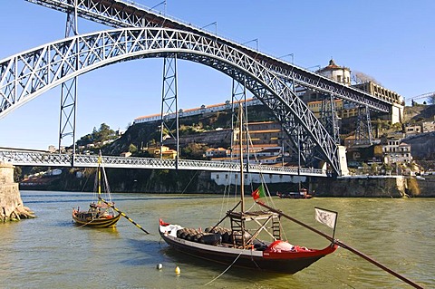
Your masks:
<instances>
[{"instance_id":1,"label":"smaller wooden boat with mast, moored left of the barrel-laden boat","mask_svg":"<svg viewBox=\"0 0 435 289\"><path fill-rule=\"evenodd\" d=\"M103 201L104 200L104 201ZM102 153L98 156L98 169L96 171L93 201L87 211L80 207L73 208L73 220L79 226L114 227L121 218L121 213L115 214L114 202L111 199L111 190L107 181L106 172L102 166Z\"/></svg>"}]
</instances>

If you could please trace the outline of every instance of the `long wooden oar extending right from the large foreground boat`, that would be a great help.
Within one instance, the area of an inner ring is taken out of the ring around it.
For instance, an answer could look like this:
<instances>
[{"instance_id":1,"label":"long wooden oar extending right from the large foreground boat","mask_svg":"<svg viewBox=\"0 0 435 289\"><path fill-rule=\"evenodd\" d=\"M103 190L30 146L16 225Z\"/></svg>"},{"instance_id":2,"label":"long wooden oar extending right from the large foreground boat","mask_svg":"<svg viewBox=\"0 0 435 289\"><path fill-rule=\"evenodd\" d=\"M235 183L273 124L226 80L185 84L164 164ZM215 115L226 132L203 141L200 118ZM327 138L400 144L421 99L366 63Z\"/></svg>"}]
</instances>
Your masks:
<instances>
[{"instance_id":1,"label":"long wooden oar extending right from the large foreground boat","mask_svg":"<svg viewBox=\"0 0 435 289\"><path fill-rule=\"evenodd\" d=\"M320 236L324 236L326 239L328 239L329 241L333 242L334 244L336 244L336 245L338 245L338 246L341 246L341 247L343 247L344 249L347 249L347 250L351 251L351 252L352 252L353 254L355 254L355 255L359 255L360 257L362 257L362 258L365 259L366 261L369 261L369 262L372 263L373 265L377 265L378 267L380 267L380 268L381 268L382 270L384 270L385 272L388 272L388 273L390 273L391 275L394 275L395 277L401 279L401 281L406 282L407 284L410 284L410 285L413 286L414 288L423 289L423 287L421 287L419 284L416 284L415 282L411 281L410 279L406 278L405 276L400 275L399 273L392 271L390 268L386 267L385 265L382 265L381 263L379 263L378 261L372 259L372 258L369 257L368 255L363 254L362 252L360 252L360 251L354 249L354 248L351 247L351 246L347 246L347 245L345 245L343 242L341 242L341 241L339 241L339 240L335 240L335 239L333 239L333 237L324 234L323 232L321 232L321 231L315 229L314 227L312 227L312 226L308 226L308 225L304 224L303 222L296 220L294 217L290 217L290 216L288 216L288 215L285 215L282 211L277 210L277 209L275 209L275 208L273 208L273 207L269 207L269 206L267 206L266 204L263 204L263 203L260 203L260 202L256 202L256 204L258 204L258 205L260 205L260 206L263 206L263 207L266 207L266 208L268 208L269 210L271 210L272 212L275 212L276 214L279 214L279 215L281 215L281 216L283 216L283 217L286 217L286 218L288 218L289 220L295 222L296 224L299 224L299 225L301 225L301 226L304 226L304 227L306 227L306 228L312 230L314 233L317 233L317 234L319 234Z\"/></svg>"}]
</instances>

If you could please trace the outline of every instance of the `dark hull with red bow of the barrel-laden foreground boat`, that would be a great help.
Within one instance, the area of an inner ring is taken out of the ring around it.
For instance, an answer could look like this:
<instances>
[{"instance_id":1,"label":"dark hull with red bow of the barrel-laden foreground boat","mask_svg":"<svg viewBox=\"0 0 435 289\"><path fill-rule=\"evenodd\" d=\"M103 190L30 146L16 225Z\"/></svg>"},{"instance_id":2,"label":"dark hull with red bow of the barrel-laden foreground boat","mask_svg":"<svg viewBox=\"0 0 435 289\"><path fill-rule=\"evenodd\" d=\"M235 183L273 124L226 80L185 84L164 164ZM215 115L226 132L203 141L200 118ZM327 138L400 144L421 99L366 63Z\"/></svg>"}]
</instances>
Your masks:
<instances>
[{"instance_id":1,"label":"dark hull with red bow of the barrel-laden foreground boat","mask_svg":"<svg viewBox=\"0 0 435 289\"><path fill-rule=\"evenodd\" d=\"M224 265L257 269L268 272L293 275L309 265L333 253L338 246L327 246L322 250L304 252L266 252L256 249L237 249L229 246L212 246L181 239L165 233L160 226L160 236L172 248L184 254L193 255L202 259ZM235 260L237 260L235 262Z\"/></svg>"}]
</instances>

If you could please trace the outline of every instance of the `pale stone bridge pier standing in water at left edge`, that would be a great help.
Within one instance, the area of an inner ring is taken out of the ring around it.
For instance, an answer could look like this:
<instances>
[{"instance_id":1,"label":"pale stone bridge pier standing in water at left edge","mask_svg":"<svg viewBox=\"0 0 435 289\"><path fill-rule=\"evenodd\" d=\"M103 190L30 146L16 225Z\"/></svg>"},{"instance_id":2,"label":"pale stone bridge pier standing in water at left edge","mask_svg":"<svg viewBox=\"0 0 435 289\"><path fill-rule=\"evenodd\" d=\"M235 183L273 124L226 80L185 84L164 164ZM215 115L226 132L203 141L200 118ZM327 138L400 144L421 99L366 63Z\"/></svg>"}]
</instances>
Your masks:
<instances>
[{"instance_id":1,"label":"pale stone bridge pier standing in water at left edge","mask_svg":"<svg viewBox=\"0 0 435 289\"><path fill-rule=\"evenodd\" d=\"M28 207L24 207L18 184L14 182L14 166L0 161L0 221L18 221L34 217Z\"/></svg>"}]
</instances>

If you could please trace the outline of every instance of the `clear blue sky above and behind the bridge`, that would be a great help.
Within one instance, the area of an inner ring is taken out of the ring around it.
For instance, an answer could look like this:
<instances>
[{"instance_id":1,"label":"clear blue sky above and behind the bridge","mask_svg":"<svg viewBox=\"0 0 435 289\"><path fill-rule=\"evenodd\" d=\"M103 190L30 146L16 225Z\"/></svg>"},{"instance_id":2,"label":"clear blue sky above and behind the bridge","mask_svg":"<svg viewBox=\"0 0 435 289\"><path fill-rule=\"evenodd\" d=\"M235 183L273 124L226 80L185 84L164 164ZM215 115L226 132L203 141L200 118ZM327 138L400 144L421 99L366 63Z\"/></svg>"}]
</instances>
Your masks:
<instances>
[{"instance_id":1,"label":"clear blue sky above and behind the bridge","mask_svg":"<svg viewBox=\"0 0 435 289\"><path fill-rule=\"evenodd\" d=\"M160 0L137 0L152 7ZM163 12L163 5L157 10ZM257 39L261 52L294 53L314 70L331 57L353 72L411 98L435 92L435 1L168 0L166 14L238 43ZM0 4L0 60L62 39L66 15L24 0ZM79 19L79 33L110 29ZM256 48L256 42L247 43ZM284 60L291 62L286 56ZM161 59L117 63L79 77L77 139L104 122L125 130L160 112ZM200 64L179 62L179 108L230 99L231 80ZM0 147L47 149L58 144L60 88L0 119ZM70 140L68 140L70 141ZM66 142L66 145L71 143Z\"/></svg>"}]
</instances>

